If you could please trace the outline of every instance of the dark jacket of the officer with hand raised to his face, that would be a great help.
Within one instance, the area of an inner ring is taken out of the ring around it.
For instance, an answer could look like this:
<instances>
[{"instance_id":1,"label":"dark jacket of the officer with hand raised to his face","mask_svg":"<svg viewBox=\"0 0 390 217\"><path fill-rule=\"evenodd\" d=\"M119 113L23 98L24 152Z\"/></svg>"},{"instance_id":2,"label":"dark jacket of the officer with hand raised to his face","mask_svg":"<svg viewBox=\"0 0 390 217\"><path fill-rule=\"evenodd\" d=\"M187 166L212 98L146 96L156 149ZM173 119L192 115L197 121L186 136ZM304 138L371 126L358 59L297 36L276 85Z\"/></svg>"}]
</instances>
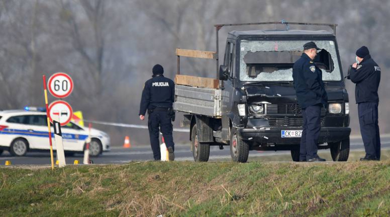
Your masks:
<instances>
[{"instance_id":1,"label":"dark jacket of the officer with hand raised to his face","mask_svg":"<svg viewBox=\"0 0 390 217\"><path fill-rule=\"evenodd\" d=\"M370 55L356 68L351 68L350 79L356 84L355 99L360 102L379 102L378 87L381 80L381 69Z\"/></svg>"}]
</instances>

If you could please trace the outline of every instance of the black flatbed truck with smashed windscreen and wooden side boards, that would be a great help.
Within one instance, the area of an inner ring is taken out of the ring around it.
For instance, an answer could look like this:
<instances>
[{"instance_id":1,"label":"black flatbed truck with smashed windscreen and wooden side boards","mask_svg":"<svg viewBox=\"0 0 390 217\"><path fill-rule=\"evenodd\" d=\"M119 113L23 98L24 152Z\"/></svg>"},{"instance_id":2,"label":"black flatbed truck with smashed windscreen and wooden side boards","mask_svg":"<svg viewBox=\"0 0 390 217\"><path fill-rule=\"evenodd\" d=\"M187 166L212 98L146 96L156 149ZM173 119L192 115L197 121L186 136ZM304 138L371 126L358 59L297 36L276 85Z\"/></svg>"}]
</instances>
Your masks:
<instances>
[{"instance_id":1,"label":"black flatbed truck with smashed windscreen and wooden side boards","mask_svg":"<svg viewBox=\"0 0 390 217\"><path fill-rule=\"evenodd\" d=\"M219 65L218 31L222 27L270 24L285 28L229 32ZM309 30L292 29L291 25ZM318 149L330 149L333 161L347 161L351 134L349 97L336 26L285 21L216 24L215 52L177 48L174 109L184 113L180 126L190 128L195 161L208 161L210 146L229 146L236 162L246 162L251 150L288 150L292 160L299 161L303 118L293 86L292 66L309 41L321 49L313 61L322 71L328 94L328 105L321 108ZM216 60L216 78L181 75L180 57Z\"/></svg>"}]
</instances>

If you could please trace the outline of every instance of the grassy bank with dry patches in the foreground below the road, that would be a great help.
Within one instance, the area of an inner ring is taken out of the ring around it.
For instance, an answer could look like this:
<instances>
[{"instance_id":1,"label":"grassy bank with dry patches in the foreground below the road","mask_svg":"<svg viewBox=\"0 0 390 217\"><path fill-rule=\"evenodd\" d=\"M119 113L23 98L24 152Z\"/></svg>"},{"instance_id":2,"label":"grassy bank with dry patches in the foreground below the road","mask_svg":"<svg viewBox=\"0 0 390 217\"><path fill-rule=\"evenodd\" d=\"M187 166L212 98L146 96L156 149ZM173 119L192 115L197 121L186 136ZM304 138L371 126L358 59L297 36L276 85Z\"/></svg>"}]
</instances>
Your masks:
<instances>
[{"instance_id":1,"label":"grassy bank with dry patches in the foreground below the road","mask_svg":"<svg viewBox=\"0 0 390 217\"><path fill-rule=\"evenodd\" d=\"M0 216L389 216L390 160L0 167Z\"/></svg>"}]
</instances>

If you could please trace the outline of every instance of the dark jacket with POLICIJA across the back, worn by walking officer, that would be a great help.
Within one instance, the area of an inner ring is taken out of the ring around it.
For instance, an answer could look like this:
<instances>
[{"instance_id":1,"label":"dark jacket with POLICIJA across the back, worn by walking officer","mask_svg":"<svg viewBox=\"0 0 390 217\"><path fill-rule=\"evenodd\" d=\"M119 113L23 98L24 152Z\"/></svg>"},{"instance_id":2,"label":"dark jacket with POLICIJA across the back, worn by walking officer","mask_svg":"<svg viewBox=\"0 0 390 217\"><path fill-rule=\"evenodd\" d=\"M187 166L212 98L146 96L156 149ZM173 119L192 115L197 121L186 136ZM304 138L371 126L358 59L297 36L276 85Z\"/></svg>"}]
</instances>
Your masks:
<instances>
[{"instance_id":1,"label":"dark jacket with POLICIJA across the back, worn by walking officer","mask_svg":"<svg viewBox=\"0 0 390 217\"><path fill-rule=\"evenodd\" d=\"M145 115L146 109L156 107L172 108L174 100L175 82L165 78L163 75L156 75L145 82L139 115Z\"/></svg>"}]
</instances>

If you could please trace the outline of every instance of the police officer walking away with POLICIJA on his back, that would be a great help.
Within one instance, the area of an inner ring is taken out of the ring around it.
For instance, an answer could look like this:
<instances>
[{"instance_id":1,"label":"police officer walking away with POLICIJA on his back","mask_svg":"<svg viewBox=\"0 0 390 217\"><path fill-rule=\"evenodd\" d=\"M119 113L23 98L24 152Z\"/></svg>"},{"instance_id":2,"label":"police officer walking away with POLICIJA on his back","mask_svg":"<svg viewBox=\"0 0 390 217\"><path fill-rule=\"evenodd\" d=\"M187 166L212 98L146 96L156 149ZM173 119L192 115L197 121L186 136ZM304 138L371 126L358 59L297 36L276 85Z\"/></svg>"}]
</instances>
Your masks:
<instances>
[{"instance_id":1,"label":"police officer walking away with POLICIJA on his back","mask_svg":"<svg viewBox=\"0 0 390 217\"><path fill-rule=\"evenodd\" d=\"M173 126L171 119L174 118L172 104L175 99L175 82L163 76L164 69L157 64L153 67L153 78L145 82L142 91L139 118L145 118L148 110L149 137L155 160L161 159L159 131L161 131L165 144L168 148L169 160L174 160L175 144L172 137Z\"/></svg>"}]
</instances>

